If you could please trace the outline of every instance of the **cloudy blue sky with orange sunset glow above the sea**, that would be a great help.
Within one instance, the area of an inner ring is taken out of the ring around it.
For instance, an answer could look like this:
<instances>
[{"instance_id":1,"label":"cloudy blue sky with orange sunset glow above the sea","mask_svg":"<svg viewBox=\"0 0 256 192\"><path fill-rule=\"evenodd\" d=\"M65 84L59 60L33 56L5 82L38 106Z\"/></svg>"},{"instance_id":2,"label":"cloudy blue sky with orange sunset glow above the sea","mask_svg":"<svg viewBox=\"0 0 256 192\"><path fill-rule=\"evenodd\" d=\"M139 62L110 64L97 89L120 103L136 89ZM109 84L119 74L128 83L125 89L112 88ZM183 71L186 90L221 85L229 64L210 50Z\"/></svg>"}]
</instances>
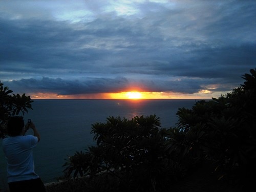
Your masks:
<instances>
[{"instance_id":1,"label":"cloudy blue sky with orange sunset glow above the sea","mask_svg":"<svg viewBox=\"0 0 256 192\"><path fill-rule=\"evenodd\" d=\"M256 67L255 21L253 0L0 0L0 80L34 99L218 98Z\"/></svg>"}]
</instances>

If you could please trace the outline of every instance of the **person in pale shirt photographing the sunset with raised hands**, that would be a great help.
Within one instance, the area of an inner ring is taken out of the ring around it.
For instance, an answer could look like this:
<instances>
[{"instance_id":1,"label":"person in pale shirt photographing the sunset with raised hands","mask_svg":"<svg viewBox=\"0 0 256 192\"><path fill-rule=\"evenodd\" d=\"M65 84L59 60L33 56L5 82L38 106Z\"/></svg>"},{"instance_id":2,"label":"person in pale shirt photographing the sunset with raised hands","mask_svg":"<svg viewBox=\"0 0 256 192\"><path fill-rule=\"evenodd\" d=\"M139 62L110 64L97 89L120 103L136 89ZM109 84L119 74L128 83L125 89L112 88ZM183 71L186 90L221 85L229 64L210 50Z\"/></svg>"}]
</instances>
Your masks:
<instances>
[{"instance_id":1,"label":"person in pale shirt photographing the sunset with raised hands","mask_svg":"<svg viewBox=\"0 0 256 192\"><path fill-rule=\"evenodd\" d=\"M3 151L7 160L7 182L13 191L46 191L44 183L34 170L32 148L40 141L40 134L33 122L24 127L22 116L11 117L7 122L8 136L3 139ZM32 129L34 135L26 135Z\"/></svg>"}]
</instances>

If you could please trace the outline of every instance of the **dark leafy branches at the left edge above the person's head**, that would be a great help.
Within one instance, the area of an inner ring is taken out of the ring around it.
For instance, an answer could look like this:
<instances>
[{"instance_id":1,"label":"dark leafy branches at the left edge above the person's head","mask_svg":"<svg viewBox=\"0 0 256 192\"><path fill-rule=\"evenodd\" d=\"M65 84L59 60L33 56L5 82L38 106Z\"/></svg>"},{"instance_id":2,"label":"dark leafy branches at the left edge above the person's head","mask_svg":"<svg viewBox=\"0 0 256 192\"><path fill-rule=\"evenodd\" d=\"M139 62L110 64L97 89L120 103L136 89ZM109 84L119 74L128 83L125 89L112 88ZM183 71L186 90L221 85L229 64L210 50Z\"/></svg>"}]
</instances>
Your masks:
<instances>
[{"instance_id":1,"label":"dark leafy branches at the left edge above the person's head","mask_svg":"<svg viewBox=\"0 0 256 192\"><path fill-rule=\"evenodd\" d=\"M32 109L30 96L19 94L12 94L13 91L8 87L4 87L4 83L0 81L0 137L4 138L6 135L6 121L10 116L18 115L28 109Z\"/></svg>"}]
</instances>

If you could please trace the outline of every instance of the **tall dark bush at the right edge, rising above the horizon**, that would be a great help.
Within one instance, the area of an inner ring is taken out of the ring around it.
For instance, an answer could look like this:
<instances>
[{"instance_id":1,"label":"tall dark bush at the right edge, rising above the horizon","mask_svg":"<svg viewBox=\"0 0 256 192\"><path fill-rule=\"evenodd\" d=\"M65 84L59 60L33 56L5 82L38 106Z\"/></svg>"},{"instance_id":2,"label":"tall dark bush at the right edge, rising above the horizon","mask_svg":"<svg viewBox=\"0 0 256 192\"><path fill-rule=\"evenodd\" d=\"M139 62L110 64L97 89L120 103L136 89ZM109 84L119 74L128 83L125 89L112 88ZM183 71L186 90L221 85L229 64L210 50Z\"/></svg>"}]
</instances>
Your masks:
<instances>
[{"instance_id":1,"label":"tall dark bush at the right edge, rising above the horizon","mask_svg":"<svg viewBox=\"0 0 256 192\"><path fill-rule=\"evenodd\" d=\"M214 162L219 179L232 182L255 179L256 73L243 75L240 88L219 98L180 108L178 128L170 131L167 150L183 158Z\"/></svg>"}]
</instances>

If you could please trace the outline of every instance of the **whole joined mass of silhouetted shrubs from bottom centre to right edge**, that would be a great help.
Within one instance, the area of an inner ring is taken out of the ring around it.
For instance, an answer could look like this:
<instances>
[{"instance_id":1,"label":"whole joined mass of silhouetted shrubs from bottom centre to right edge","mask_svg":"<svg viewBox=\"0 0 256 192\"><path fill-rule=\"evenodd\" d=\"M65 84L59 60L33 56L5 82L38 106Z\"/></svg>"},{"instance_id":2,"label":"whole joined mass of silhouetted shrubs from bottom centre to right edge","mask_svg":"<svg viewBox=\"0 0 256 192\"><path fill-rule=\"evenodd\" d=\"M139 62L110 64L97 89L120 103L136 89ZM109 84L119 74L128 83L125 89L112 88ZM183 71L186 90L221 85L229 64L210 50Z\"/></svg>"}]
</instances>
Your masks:
<instances>
[{"instance_id":1,"label":"whole joined mass of silhouetted shrubs from bottom centre to right edge","mask_svg":"<svg viewBox=\"0 0 256 192\"><path fill-rule=\"evenodd\" d=\"M208 174L214 172L216 180L242 187L253 184L255 70L243 75L244 84L231 93L198 101L191 109L180 108L177 127L162 129L156 115L132 120L109 117L105 123L93 124L96 146L69 157L65 173L92 180L99 175L112 178L119 191L164 191L189 170L196 172L210 162ZM110 187L109 183L101 185Z\"/></svg>"}]
</instances>

